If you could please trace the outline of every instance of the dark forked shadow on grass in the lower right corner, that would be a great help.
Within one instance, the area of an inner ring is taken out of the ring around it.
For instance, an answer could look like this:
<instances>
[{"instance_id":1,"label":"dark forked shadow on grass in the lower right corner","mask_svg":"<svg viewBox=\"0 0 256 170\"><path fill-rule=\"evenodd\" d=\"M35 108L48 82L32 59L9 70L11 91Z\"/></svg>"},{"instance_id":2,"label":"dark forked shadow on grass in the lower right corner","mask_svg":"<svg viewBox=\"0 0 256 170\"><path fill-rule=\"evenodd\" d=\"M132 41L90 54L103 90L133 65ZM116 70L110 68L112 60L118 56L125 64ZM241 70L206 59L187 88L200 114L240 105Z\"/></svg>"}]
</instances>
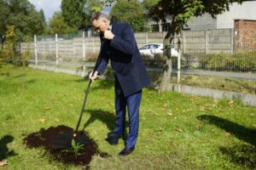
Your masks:
<instances>
[{"instance_id":1,"label":"dark forked shadow on grass in the lower right corner","mask_svg":"<svg viewBox=\"0 0 256 170\"><path fill-rule=\"evenodd\" d=\"M246 142L247 144L221 147L219 150L224 155L230 157L230 161L237 165L252 169L256 167L256 129L243 127L236 122L230 122L218 116L202 115L197 118L203 122L220 127L236 136L237 139Z\"/></svg>"}]
</instances>

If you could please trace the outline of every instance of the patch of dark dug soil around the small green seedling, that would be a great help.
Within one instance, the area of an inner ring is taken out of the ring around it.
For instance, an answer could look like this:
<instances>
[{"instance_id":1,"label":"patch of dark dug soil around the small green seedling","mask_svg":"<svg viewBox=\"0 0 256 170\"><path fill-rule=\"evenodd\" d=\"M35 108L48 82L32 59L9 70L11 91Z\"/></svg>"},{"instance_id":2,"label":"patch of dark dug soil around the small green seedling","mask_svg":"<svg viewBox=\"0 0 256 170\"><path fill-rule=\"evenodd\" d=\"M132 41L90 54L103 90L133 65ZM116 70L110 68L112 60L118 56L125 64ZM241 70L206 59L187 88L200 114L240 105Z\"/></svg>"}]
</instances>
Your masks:
<instances>
[{"instance_id":1,"label":"patch of dark dug soil around the small green seedling","mask_svg":"<svg viewBox=\"0 0 256 170\"><path fill-rule=\"evenodd\" d=\"M80 132L79 132L80 133ZM73 128L67 126L41 128L39 132L29 134L23 139L28 148L44 147L52 157L64 164L74 164L86 166L90 164L94 155L108 157L107 153L100 153L97 144L90 139L87 133L78 135L78 140L84 144L79 150L79 155L75 156L71 146L73 139Z\"/></svg>"}]
</instances>

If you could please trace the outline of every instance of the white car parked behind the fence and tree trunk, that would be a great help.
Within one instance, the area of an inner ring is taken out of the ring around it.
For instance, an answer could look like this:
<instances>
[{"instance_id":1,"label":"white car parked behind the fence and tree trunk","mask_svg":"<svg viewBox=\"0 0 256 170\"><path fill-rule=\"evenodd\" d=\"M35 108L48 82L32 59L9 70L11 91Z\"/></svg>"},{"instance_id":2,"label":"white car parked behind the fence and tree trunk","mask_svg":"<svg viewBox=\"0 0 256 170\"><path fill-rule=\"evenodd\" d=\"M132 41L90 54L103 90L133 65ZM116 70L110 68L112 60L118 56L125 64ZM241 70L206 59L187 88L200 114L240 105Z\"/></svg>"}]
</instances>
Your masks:
<instances>
[{"instance_id":1,"label":"white car parked behind the fence and tree trunk","mask_svg":"<svg viewBox=\"0 0 256 170\"><path fill-rule=\"evenodd\" d=\"M154 59L155 54L163 54L164 46L162 43L147 43L142 48L139 48L139 51L143 55L149 55L150 59ZM177 57L177 50L171 48L171 54Z\"/></svg>"}]
</instances>

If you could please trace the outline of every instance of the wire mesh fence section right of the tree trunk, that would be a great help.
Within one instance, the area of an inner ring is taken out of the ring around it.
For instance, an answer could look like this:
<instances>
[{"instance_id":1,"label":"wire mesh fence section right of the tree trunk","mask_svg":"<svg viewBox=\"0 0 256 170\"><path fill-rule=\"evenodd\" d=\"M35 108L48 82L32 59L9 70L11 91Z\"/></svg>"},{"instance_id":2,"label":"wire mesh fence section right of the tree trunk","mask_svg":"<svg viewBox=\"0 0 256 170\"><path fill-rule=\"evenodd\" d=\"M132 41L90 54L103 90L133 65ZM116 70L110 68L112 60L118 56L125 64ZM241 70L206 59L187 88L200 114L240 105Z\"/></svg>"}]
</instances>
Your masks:
<instances>
[{"instance_id":1,"label":"wire mesh fence section right of the tree trunk","mask_svg":"<svg viewBox=\"0 0 256 170\"><path fill-rule=\"evenodd\" d=\"M180 83L256 94L256 37L248 27L240 29L247 30L240 38L236 29L183 31ZM172 59L171 81L178 81L177 58Z\"/></svg>"}]
</instances>

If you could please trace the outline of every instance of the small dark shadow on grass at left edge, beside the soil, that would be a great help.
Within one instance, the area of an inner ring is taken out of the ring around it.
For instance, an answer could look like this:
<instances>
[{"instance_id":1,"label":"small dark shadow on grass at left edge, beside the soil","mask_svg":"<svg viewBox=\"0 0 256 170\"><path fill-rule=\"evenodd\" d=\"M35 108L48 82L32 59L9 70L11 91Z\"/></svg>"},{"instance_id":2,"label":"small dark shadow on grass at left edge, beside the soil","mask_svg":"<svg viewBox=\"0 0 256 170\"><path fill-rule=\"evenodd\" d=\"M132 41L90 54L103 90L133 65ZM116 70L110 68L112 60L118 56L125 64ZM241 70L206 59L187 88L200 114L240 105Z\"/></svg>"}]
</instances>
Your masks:
<instances>
[{"instance_id":1,"label":"small dark shadow on grass at left edge, beside the soil","mask_svg":"<svg viewBox=\"0 0 256 170\"><path fill-rule=\"evenodd\" d=\"M0 161L8 158L9 156L16 156L14 150L9 150L7 144L11 143L14 140L14 137L11 135L5 135L2 139L0 139Z\"/></svg>"}]
</instances>

